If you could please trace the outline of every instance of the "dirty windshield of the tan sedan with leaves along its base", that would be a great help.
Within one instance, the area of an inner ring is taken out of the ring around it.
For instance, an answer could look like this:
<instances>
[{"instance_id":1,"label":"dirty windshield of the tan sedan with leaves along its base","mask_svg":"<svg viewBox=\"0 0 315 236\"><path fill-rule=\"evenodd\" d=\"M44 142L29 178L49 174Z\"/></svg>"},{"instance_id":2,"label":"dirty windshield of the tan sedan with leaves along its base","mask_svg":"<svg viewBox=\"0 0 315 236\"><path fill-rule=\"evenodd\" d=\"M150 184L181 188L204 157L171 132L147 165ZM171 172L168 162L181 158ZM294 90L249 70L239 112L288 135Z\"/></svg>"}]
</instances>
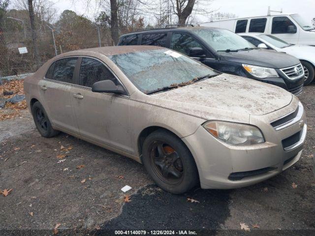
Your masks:
<instances>
[{"instance_id":1,"label":"dirty windshield of the tan sedan with leaves along its base","mask_svg":"<svg viewBox=\"0 0 315 236\"><path fill-rule=\"evenodd\" d=\"M211 68L168 49L108 56L142 92L193 83L196 78L218 75Z\"/></svg>"}]
</instances>

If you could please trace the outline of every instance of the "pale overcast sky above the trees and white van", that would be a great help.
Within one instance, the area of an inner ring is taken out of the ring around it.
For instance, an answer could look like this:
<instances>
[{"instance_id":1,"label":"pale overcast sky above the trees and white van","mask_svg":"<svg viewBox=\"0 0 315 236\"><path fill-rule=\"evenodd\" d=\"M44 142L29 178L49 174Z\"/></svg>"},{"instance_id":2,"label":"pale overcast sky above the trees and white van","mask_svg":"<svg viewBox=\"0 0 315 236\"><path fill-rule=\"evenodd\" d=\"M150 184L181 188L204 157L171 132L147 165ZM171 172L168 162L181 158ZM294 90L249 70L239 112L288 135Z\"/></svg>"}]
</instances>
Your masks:
<instances>
[{"instance_id":1,"label":"pale overcast sky above the trees and white van","mask_svg":"<svg viewBox=\"0 0 315 236\"><path fill-rule=\"evenodd\" d=\"M87 9L85 0L51 0L54 7L61 13L65 9L71 9L79 14L84 14L94 19L100 11L95 0L91 0L91 6ZM204 1L206 2L206 0ZM268 6L272 10L283 8L285 14L299 13L305 20L311 23L315 17L315 0L214 0L209 4L209 9L219 9L220 12L230 12L238 17L267 15ZM207 17L199 17L199 20L207 21Z\"/></svg>"}]
</instances>

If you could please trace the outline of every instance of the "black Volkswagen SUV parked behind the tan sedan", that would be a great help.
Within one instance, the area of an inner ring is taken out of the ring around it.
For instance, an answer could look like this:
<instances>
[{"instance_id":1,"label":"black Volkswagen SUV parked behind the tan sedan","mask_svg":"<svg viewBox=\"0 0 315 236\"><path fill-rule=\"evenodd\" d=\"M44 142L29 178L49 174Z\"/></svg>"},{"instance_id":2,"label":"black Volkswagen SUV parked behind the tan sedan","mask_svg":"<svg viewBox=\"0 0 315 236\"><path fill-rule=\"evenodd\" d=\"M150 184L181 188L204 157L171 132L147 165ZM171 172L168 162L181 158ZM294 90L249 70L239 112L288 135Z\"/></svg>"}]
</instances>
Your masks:
<instances>
[{"instance_id":1,"label":"black Volkswagen SUV parked behind the tan sedan","mask_svg":"<svg viewBox=\"0 0 315 236\"><path fill-rule=\"evenodd\" d=\"M118 45L166 47L218 71L277 85L295 95L303 89L304 71L298 59L258 49L226 29L183 27L143 30L122 35Z\"/></svg>"}]
</instances>

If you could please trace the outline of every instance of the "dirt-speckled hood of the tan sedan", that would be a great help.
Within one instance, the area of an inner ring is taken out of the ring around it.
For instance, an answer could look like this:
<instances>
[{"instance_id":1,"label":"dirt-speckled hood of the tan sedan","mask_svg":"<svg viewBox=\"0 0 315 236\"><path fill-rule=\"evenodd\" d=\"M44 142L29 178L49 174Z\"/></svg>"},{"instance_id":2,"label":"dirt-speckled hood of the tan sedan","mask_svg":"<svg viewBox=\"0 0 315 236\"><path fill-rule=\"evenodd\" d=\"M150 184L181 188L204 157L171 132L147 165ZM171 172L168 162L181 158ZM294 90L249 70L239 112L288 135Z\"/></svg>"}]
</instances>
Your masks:
<instances>
[{"instance_id":1,"label":"dirt-speckled hood of the tan sedan","mask_svg":"<svg viewBox=\"0 0 315 236\"><path fill-rule=\"evenodd\" d=\"M219 76L150 95L157 105L204 119L260 116L279 110L292 94L273 85L235 75Z\"/></svg>"}]
</instances>

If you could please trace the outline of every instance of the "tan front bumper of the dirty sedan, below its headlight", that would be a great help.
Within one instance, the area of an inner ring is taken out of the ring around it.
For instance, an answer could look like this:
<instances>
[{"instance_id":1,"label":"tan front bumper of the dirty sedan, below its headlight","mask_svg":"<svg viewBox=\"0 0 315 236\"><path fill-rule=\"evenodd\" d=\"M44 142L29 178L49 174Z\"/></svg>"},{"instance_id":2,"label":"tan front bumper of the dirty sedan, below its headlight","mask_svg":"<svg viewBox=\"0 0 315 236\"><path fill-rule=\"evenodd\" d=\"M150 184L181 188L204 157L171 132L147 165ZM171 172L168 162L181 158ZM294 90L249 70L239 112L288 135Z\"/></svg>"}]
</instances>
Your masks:
<instances>
[{"instance_id":1,"label":"tan front bumper of the dirty sedan, below its headlight","mask_svg":"<svg viewBox=\"0 0 315 236\"><path fill-rule=\"evenodd\" d=\"M305 113L301 120L306 120ZM300 159L306 124L297 122L275 130L261 117L251 123L261 129L266 142L252 146L230 146L214 138L202 126L183 138L194 156L202 188L230 189L248 186L273 177ZM284 150L282 141L301 132L299 145Z\"/></svg>"}]
</instances>

